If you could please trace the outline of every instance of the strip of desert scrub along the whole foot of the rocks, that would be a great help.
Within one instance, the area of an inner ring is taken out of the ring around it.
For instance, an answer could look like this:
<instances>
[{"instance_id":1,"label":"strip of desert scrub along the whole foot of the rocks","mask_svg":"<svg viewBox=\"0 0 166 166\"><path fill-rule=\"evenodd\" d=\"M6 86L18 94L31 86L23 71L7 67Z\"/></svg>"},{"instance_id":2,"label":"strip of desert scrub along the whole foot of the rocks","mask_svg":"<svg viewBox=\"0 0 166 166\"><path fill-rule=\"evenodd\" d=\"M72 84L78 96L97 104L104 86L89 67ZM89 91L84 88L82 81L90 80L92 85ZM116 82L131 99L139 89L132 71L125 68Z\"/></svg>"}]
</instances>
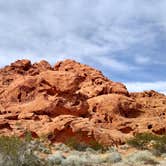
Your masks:
<instances>
[{"instance_id":1,"label":"strip of desert scrub along the whole foot of the rocks","mask_svg":"<svg viewBox=\"0 0 166 166\"><path fill-rule=\"evenodd\" d=\"M0 166L157 166L164 161L163 158L159 162L153 152L166 154L165 136L137 134L128 144L138 150L124 157L115 147L103 147L96 142L86 144L75 138L67 140L66 144L50 146L41 139L32 139L29 132L24 138L1 136Z\"/></svg>"}]
</instances>

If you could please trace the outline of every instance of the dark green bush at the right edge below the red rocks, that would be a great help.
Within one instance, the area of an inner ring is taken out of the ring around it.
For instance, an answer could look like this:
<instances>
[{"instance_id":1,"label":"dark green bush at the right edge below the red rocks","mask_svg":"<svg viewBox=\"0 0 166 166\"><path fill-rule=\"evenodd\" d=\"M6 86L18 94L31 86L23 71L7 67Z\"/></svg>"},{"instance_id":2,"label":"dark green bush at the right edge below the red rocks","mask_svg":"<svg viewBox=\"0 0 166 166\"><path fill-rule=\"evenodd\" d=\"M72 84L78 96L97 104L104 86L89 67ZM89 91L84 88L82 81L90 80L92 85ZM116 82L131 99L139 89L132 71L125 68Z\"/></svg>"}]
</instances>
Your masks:
<instances>
[{"instance_id":1,"label":"dark green bush at the right edge below the red rocks","mask_svg":"<svg viewBox=\"0 0 166 166\"><path fill-rule=\"evenodd\" d=\"M166 153L166 135L140 133L128 140L127 143L137 149L152 150L156 155Z\"/></svg>"}]
</instances>

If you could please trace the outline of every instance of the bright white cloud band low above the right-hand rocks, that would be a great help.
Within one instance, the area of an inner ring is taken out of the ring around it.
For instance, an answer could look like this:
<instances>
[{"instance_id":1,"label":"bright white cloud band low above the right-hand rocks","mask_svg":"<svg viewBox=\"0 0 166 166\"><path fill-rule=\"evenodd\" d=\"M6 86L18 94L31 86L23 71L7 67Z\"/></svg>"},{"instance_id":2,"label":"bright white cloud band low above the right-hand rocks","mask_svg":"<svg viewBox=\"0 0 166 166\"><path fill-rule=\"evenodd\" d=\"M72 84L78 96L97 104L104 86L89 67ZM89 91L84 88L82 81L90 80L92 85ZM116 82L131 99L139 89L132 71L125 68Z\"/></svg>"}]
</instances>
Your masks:
<instances>
[{"instance_id":1,"label":"bright white cloud band low above the right-hand rocks","mask_svg":"<svg viewBox=\"0 0 166 166\"><path fill-rule=\"evenodd\" d=\"M156 90L161 93L166 92L166 81L126 82L125 85L130 92L140 92L144 90Z\"/></svg>"}]
</instances>

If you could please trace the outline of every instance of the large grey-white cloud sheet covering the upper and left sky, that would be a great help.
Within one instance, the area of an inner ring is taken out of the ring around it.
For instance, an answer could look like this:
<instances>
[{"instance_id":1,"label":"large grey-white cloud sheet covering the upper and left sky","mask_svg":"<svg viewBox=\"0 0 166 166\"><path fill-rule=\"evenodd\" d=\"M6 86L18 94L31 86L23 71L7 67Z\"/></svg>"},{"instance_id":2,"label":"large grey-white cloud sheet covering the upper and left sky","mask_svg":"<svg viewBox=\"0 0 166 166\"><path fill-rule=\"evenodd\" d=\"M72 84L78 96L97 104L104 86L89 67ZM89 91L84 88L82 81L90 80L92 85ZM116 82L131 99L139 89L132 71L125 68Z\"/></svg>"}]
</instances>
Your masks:
<instances>
[{"instance_id":1,"label":"large grey-white cloud sheet covering the upper and left sky","mask_svg":"<svg viewBox=\"0 0 166 166\"><path fill-rule=\"evenodd\" d=\"M164 28L165 7L162 0L0 1L0 60L10 52L82 59L153 43L151 27Z\"/></svg>"}]
</instances>

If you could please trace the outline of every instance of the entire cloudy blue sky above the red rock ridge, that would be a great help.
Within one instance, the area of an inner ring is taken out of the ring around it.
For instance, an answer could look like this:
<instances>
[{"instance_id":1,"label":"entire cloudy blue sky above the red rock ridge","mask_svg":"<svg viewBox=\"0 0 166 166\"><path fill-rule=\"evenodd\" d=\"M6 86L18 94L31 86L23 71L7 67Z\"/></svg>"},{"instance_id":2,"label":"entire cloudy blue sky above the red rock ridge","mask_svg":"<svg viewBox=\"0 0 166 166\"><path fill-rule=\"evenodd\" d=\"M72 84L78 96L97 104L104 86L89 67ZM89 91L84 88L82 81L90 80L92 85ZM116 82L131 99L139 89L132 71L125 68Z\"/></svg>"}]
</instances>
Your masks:
<instances>
[{"instance_id":1,"label":"entire cloudy blue sky above the red rock ridge","mask_svg":"<svg viewBox=\"0 0 166 166\"><path fill-rule=\"evenodd\" d=\"M0 0L0 66L75 59L166 93L165 0Z\"/></svg>"}]
</instances>

